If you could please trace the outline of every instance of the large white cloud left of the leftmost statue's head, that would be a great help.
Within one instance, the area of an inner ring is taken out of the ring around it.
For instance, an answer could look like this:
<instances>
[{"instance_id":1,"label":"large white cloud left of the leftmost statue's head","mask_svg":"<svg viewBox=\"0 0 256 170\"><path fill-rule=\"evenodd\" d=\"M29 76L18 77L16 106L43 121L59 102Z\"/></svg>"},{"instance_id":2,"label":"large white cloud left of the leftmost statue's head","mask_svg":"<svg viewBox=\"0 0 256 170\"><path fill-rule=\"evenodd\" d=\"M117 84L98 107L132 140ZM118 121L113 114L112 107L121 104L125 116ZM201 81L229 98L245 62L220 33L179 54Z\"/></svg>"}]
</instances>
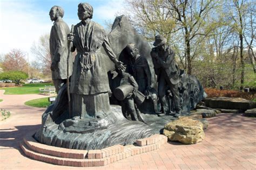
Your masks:
<instances>
[{"instance_id":1,"label":"large white cloud left of the leftmost statue's head","mask_svg":"<svg viewBox=\"0 0 256 170\"><path fill-rule=\"evenodd\" d=\"M33 42L51 30L52 23L42 18L48 12L35 10L29 3L2 1L0 6L0 53L8 53L12 48L30 53Z\"/></svg>"}]
</instances>

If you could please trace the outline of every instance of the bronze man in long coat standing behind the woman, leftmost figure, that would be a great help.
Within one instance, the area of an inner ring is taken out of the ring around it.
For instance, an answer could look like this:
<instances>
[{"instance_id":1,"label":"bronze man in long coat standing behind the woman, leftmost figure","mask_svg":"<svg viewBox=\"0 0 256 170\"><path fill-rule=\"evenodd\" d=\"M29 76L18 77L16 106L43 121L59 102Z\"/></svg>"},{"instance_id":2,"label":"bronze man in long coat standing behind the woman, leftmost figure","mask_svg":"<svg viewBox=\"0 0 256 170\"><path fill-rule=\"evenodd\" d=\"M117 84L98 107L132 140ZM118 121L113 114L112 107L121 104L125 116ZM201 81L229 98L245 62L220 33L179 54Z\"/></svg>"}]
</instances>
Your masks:
<instances>
[{"instance_id":1,"label":"bronze man in long coat standing behind the woman, leftmost figure","mask_svg":"<svg viewBox=\"0 0 256 170\"><path fill-rule=\"evenodd\" d=\"M68 34L69 26L63 21L64 10L60 6L53 6L49 12L54 22L50 34L51 73L53 84L58 93L59 89L66 83L67 59L69 55ZM69 73L72 73L72 57L69 58ZM71 75L71 74L70 74ZM70 77L69 75L69 77Z\"/></svg>"}]
</instances>

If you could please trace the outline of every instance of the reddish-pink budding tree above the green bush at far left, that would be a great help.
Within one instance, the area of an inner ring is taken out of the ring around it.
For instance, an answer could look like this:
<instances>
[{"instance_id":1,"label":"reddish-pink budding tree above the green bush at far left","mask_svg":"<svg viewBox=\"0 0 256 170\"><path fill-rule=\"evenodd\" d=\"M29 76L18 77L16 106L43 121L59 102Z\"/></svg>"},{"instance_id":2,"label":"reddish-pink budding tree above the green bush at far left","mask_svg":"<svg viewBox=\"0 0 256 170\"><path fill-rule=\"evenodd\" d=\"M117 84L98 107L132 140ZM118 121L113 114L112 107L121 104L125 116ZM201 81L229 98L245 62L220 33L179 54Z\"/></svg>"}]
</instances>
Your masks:
<instances>
[{"instance_id":1,"label":"reddish-pink budding tree above the green bush at far left","mask_svg":"<svg viewBox=\"0 0 256 170\"><path fill-rule=\"evenodd\" d=\"M28 62L25 60L25 53L21 49L11 49L5 55L2 66L4 71L17 70L25 73L28 72Z\"/></svg>"}]
</instances>

